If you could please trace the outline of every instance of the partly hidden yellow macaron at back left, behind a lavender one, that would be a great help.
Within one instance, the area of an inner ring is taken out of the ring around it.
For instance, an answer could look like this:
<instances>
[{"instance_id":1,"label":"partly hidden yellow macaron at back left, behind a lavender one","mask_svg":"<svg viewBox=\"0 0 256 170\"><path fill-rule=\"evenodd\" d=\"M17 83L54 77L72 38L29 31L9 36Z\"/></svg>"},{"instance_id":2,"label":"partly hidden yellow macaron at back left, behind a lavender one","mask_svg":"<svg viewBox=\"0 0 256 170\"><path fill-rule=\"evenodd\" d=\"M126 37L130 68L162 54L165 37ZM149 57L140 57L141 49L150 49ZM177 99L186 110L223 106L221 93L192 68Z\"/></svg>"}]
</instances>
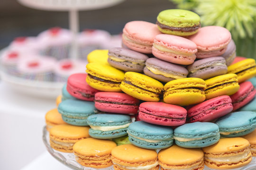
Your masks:
<instances>
[{"instance_id":1,"label":"partly hidden yellow macaron at back left, behind a lavender one","mask_svg":"<svg viewBox=\"0 0 256 170\"><path fill-rule=\"evenodd\" d=\"M91 51L88 55L87 55L87 60L88 63L100 63L100 64L105 64L105 65L109 65L108 62L108 55L109 50L93 50Z\"/></svg>"}]
</instances>

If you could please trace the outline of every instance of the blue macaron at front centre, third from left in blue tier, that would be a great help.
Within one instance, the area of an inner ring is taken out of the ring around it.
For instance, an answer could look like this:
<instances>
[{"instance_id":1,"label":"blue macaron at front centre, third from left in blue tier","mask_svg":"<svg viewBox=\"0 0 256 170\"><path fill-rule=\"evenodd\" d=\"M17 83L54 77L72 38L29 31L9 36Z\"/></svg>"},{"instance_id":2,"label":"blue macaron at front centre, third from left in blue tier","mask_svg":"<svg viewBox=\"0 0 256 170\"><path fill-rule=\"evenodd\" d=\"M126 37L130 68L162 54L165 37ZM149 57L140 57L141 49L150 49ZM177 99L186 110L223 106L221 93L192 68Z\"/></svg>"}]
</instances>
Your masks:
<instances>
[{"instance_id":1,"label":"blue macaron at front centre, third from left in blue tier","mask_svg":"<svg viewBox=\"0 0 256 170\"><path fill-rule=\"evenodd\" d=\"M128 127L129 141L141 148L163 149L171 146L174 131L171 127L136 121Z\"/></svg>"}]
</instances>

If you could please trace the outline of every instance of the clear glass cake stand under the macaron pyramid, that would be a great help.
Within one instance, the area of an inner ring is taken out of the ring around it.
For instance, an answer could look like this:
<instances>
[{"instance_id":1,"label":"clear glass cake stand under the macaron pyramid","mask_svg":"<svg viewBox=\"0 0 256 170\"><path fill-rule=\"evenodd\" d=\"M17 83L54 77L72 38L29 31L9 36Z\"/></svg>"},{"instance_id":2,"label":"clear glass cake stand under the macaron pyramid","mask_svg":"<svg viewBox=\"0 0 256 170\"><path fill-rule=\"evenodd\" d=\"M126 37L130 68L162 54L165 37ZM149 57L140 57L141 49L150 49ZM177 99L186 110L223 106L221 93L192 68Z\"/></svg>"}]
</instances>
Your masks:
<instances>
[{"instance_id":1,"label":"clear glass cake stand under the macaron pyramid","mask_svg":"<svg viewBox=\"0 0 256 170\"><path fill-rule=\"evenodd\" d=\"M104 168L104 169L96 169L96 168L90 168L90 167L84 167L80 165L75 160L75 155L73 153L63 153L54 150L49 143L49 132L46 130L46 126L43 128L43 142L46 145L47 151L58 161L66 165L67 167L73 169L73 170L114 170L113 166ZM204 170L213 170L205 166ZM253 157L253 160L248 164L247 166L243 168L237 168L233 170L256 170L256 157Z\"/></svg>"}]
</instances>

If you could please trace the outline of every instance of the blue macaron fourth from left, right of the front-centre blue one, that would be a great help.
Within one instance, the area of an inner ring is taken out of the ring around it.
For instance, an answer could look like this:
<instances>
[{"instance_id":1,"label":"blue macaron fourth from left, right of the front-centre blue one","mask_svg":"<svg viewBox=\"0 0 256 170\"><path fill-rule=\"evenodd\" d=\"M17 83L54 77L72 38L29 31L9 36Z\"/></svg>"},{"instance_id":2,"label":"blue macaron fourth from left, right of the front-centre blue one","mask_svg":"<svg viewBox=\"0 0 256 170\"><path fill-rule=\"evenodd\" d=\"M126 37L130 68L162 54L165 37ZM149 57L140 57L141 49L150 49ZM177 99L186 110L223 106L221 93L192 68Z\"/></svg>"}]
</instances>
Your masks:
<instances>
[{"instance_id":1,"label":"blue macaron fourth from left, right of the front-centre blue one","mask_svg":"<svg viewBox=\"0 0 256 170\"><path fill-rule=\"evenodd\" d=\"M219 141L219 127L210 122L187 123L174 129L175 144L185 148L210 146Z\"/></svg>"}]
</instances>

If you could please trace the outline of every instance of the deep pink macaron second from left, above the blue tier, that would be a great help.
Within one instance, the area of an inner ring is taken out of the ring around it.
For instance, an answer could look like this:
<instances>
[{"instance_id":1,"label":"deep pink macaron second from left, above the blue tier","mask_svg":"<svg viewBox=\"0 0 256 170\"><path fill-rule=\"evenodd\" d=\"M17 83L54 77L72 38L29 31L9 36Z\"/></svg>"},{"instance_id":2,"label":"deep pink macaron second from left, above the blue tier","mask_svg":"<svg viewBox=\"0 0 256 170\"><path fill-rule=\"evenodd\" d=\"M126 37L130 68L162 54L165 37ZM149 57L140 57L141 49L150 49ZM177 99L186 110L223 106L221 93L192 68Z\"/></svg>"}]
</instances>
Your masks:
<instances>
[{"instance_id":1,"label":"deep pink macaron second from left, above the blue tier","mask_svg":"<svg viewBox=\"0 0 256 170\"><path fill-rule=\"evenodd\" d=\"M137 114L139 100L118 92L99 92L95 94L95 107L112 113Z\"/></svg>"}]
</instances>

